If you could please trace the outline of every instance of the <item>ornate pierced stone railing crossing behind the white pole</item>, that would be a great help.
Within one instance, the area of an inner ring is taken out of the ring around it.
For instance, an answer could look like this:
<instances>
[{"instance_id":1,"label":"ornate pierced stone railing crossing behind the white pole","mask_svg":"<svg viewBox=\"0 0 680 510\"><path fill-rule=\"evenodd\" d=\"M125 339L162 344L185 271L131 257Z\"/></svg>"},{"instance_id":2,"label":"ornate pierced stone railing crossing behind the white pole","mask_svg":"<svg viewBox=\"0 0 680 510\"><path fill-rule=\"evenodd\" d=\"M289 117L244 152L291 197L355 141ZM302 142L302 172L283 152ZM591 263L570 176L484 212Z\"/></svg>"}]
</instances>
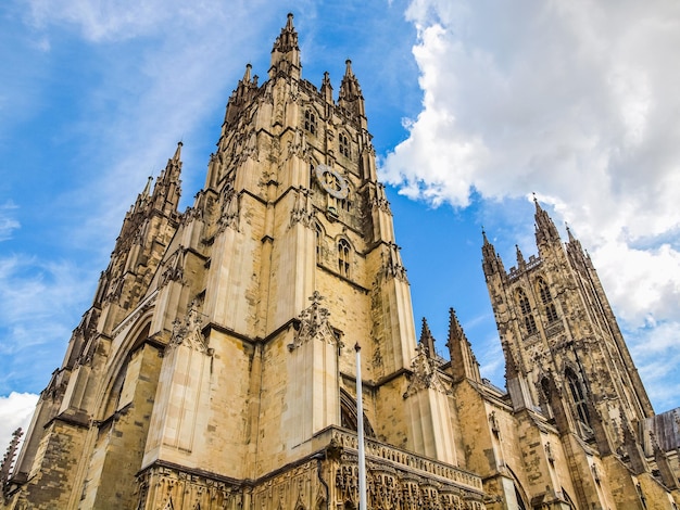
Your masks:
<instances>
[{"instance_id":1,"label":"ornate pierced stone railing crossing behind the white pole","mask_svg":"<svg viewBox=\"0 0 680 510\"><path fill-rule=\"evenodd\" d=\"M351 432L336 428L331 428L325 432L330 434L331 441L338 446L351 449L357 449L358 447L356 435ZM444 479L445 481L475 492L482 490L481 479L459 468L428 459L427 457L421 457L411 451L401 450L375 439L366 438L365 445L367 461L370 461L372 457L382 459L396 469L403 469L404 471L411 471L416 474L420 471L429 476Z\"/></svg>"}]
</instances>

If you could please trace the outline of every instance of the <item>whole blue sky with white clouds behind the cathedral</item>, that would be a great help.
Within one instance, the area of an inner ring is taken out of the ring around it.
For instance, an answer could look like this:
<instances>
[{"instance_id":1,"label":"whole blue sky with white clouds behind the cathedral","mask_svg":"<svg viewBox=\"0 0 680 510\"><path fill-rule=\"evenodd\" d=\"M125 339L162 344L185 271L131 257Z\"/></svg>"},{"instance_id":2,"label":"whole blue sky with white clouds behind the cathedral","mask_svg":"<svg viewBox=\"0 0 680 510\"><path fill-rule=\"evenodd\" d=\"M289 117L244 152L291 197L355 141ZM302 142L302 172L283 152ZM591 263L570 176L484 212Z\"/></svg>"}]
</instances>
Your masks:
<instances>
[{"instance_id":1,"label":"whole blue sky with white clouds behind the cathedral","mask_svg":"<svg viewBox=\"0 0 680 510\"><path fill-rule=\"evenodd\" d=\"M230 91L293 12L303 77L350 58L414 315L503 361L481 227L536 253L536 192L590 252L657 412L680 406L680 4L7 0L0 7L0 448L91 303L125 211L184 141L182 208Z\"/></svg>"}]
</instances>

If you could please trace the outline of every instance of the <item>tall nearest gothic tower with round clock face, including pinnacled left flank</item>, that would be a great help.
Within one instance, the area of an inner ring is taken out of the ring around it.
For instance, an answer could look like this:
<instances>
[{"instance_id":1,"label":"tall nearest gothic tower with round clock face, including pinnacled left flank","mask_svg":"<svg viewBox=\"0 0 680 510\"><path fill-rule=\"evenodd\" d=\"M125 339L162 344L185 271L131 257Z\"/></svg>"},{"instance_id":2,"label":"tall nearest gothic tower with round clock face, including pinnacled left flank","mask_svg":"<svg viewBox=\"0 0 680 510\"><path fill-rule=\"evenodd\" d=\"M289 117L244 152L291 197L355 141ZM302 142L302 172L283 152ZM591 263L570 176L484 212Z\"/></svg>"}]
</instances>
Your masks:
<instances>
[{"instance_id":1,"label":"tall nearest gothic tower with round clock face, including pinnacled left flank","mask_svg":"<svg viewBox=\"0 0 680 510\"><path fill-rule=\"evenodd\" d=\"M127 214L4 505L355 508L360 343L370 506L483 508L416 350L370 138L351 63L337 101L302 79L289 15L193 206L179 144Z\"/></svg>"}]
</instances>

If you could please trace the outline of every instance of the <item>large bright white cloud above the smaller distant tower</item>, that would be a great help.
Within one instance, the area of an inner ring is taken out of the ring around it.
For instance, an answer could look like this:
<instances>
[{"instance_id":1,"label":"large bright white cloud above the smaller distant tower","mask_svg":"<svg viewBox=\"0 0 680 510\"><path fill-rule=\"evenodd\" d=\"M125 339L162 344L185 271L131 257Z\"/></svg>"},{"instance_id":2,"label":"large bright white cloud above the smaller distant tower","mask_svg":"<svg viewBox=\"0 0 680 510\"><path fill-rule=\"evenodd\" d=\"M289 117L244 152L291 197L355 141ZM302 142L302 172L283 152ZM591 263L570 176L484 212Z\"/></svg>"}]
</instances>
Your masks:
<instances>
[{"instance_id":1,"label":"large bright white cloud above the smaller distant tower","mask_svg":"<svg viewBox=\"0 0 680 510\"><path fill-rule=\"evenodd\" d=\"M435 205L537 191L630 331L680 321L680 7L414 0L407 16L423 110L386 180Z\"/></svg>"}]
</instances>

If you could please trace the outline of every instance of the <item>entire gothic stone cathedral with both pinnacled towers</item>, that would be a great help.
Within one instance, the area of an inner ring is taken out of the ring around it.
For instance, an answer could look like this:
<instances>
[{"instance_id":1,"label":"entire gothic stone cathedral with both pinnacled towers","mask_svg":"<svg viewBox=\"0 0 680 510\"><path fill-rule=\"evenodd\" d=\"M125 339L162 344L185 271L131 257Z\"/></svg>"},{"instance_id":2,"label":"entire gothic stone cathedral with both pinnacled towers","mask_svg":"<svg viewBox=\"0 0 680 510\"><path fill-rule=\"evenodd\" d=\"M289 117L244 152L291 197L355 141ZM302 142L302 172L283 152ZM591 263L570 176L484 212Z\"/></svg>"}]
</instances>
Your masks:
<instances>
[{"instance_id":1,"label":"entire gothic stone cathedral with both pinnacled towers","mask_svg":"<svg viewBox=\"0 0 680 510\"><path fill-rule=\"evenodd\" d=\"M492 385L453 309L449 359L416 329L351 62L337 99L303 79L289 14L251 71L193 205L179 143L125 215L0 508L356 510L365 451L374 510L677 509L677 413L579 241L537 202L507 271L482 233Z\"/></svg>"}]
</instances>

